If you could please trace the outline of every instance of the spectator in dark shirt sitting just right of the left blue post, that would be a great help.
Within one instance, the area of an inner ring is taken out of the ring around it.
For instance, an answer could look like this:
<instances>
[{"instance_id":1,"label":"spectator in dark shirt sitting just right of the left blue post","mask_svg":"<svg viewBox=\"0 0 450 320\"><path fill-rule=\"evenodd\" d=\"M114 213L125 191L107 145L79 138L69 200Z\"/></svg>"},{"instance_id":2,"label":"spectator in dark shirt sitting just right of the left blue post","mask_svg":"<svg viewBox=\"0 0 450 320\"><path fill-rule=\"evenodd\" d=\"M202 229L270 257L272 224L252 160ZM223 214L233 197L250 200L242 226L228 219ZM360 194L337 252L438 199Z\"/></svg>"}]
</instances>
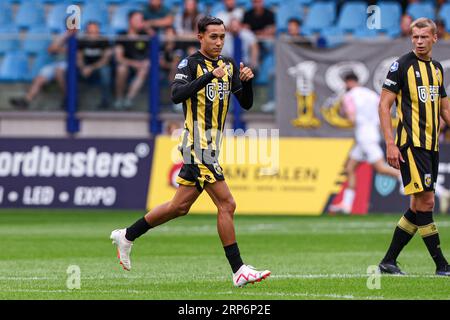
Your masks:
<instances>
[{"instance_id":1,"label":"spectator in dark shirt sitting just right of the left blue post","mask_svg":"<svg viewBox=\"0 0 450 320\"><path fill-rule=\"evenodd\" d=\"M98 109L107 109L111 103L111 56L109 40L100 35L100 26L97 22L89 22L85 36L78 41L77 67L81 79L100 83L102 99Z\"/></svg>"}]
</instances>

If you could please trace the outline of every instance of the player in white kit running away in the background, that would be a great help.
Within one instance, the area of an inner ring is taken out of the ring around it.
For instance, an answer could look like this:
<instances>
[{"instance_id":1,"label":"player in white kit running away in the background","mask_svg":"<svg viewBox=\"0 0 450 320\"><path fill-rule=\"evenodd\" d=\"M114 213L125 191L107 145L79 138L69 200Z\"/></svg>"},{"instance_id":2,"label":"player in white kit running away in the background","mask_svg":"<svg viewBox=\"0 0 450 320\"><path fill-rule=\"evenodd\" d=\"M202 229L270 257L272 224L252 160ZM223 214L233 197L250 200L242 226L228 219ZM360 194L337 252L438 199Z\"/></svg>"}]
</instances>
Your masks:
<instances>
[{"instance_id":1,"label":"player in white kit running away in the background","mask_svg":"<svg viewBox=\"0 0 450 320\"><path fill-rule=\"evenodd\" d=\"M356 168L361 162L367 161L379 174L401 179L399 170L386 165L383 150L379 144L381 139L378 119L380 97L376 92L360 86L358 77L354 73L345 75L344 82L347 92L342 98L342 104L347 118L355 125L355 146L350 151L345 168L348 186L344 190L343 199L338 204L330 205L329 211L349 214L355 199Z\"/></svg>"}]
</instances>

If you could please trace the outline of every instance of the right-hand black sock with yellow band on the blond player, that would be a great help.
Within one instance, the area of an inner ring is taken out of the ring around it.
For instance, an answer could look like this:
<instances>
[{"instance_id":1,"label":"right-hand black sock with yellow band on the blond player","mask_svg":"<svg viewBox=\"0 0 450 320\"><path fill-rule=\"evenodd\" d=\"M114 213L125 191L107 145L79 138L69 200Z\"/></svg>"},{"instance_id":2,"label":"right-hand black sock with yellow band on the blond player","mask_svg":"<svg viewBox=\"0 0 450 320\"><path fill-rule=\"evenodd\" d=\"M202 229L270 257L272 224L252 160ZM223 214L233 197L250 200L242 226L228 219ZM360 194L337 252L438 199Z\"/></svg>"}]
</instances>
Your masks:
<instances>
[{"instance_id":1,"label":"right-hand black sock with yellow band on the blond player","mask_svg":"<svg viewBox=\"0 0 450 320\"><path fill-rule=\"evenodd\" d=\"M417 211L417 226L422 236L423 242L427 246L428 252L436 264L436 269L441 270L448 265L447 260L442 254L439 232L433 221L433 213L431 211Z\"/></svg>"}]
</instances>

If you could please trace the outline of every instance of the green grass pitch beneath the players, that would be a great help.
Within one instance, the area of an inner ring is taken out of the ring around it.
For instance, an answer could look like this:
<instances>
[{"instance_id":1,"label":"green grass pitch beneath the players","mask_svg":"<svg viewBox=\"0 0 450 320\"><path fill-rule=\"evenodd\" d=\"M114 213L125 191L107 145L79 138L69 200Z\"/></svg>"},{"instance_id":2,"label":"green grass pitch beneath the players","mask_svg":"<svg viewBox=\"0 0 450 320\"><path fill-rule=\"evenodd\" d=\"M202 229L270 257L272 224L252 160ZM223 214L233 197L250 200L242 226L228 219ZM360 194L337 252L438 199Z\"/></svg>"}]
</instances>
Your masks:
<instances>
[{"instance_id":1,"label":"green grass pitch beneath the players","mask_svg":"<svg viewBox=\"0 0 450 320\"><path fill-rule=\"evenodd\" d=\"M380 289L368 289L367 268L383 257L399 215L237 214L244 262L272 275L234 288L214 215L188 215L151 230L135 242L132 270L124 271L109 234L142 214L0 211L0 299L450 298L450 278L434 276L434 264L418 235L399 258L408 276L382 276ZM450 216L435 220L450 257ZM79 290L67 288L70 265L80 268Z\"/></svg>"}]
</instances>

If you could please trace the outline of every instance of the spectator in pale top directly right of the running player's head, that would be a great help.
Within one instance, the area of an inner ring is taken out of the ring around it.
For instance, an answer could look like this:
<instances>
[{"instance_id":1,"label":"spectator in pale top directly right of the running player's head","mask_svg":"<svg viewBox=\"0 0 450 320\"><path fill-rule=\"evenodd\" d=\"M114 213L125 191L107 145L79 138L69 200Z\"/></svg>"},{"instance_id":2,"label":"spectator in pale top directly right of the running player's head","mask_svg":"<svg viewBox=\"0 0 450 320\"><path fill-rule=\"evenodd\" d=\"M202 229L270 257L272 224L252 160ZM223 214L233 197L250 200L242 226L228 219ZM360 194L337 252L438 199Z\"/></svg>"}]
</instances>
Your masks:
<instances>
[{"instance_id":1,"label":"spectator in pale top directly right of the running player's head","mask_svg":"<svg viewBox=\"0 0 450 320\"><path fill-rule=\"evenodd\" d=\"M239 36L242 41L241 61L256 74L259 66L259 46L255 34L249 29L243 28L242 23L236 18L231 18L227 30L225 38L228 40L223 45L222 54L229 57L234 56L233 38Z\"/></svg>"}]
</instances>

